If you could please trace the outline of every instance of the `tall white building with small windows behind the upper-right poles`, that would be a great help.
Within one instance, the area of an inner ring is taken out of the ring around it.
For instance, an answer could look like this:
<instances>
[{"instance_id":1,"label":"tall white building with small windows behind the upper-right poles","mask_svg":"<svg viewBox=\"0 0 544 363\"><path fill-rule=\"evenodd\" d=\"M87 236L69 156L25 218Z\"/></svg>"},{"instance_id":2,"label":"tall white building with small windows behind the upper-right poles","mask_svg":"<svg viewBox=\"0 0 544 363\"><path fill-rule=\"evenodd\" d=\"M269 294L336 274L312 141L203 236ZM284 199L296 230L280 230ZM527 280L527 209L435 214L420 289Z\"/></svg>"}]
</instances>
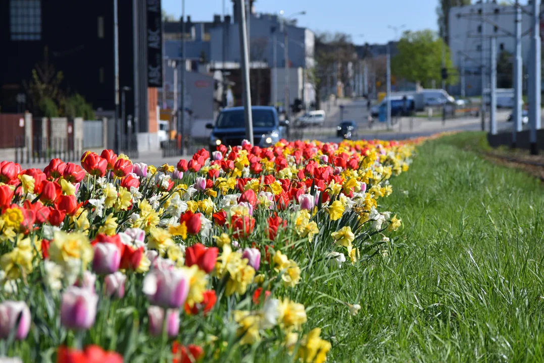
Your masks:
<instances>
[{"instance_id":1,"label":"tall white building with small windows behind the upper-right poles","mask_svg":"<svg viewBox=\"0 0 544 363\"><path fill-rule=\"evenodd\" d=\"M524 65L527 65L530 54L530 27L532 11L531 5L523 5L522 10L522 57ZM483 11L483 12L482 12ZM515 15L513 5L500 5L496 1L487 1L454 7L449 12L449 48L452 61L458 68L465 62L468 73L466 78L468 94L481 92L480 63L481 55L484 55L484 72L487 74L489 84L489 65L491 36L497 37L497 56L503 50L514 54L516 49ZM482 22L482 14L485 22ZM482 47L482 36L484 43Z\"/></svg>"}]
</instances>

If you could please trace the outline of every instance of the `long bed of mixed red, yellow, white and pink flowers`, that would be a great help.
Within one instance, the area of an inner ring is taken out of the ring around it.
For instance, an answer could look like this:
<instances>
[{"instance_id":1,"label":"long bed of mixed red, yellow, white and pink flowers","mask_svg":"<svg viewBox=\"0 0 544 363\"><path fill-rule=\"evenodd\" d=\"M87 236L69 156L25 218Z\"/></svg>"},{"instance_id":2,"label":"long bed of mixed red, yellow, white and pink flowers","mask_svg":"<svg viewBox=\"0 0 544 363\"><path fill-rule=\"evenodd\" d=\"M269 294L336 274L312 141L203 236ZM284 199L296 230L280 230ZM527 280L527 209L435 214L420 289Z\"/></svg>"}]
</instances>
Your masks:
<instances>
[{"instance_id":1,"label":"long bed of mixed red, yellow, white and pink flowers","mask_svg":"<svg viewBox=\"0 0 544 363\"><path fill-rule=\"evenodd\" d=\"M85 152L0 163L0 355L23 361L322 362L297 286L383 252L412 144L223 145L174 167ZM385 233L385 234L384 234ZM357 304L346 303L351 314Z\"/></svg>"}]
</instances>

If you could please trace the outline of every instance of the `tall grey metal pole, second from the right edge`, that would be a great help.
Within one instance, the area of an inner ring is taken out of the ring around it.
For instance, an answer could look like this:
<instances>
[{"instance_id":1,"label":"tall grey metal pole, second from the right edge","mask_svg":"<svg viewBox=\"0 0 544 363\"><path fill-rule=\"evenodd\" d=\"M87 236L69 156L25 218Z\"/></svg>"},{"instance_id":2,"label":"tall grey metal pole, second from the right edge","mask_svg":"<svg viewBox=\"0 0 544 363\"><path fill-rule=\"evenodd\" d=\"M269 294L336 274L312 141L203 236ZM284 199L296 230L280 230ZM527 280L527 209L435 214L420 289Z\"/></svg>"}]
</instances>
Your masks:
<instances>
[{"instance_id":1,"label":"tall grey metal pole, second from the right edge","mask_svg":"<svg viewBox=\"0 0 544 363\"><path fill-rule=\"evenodd\" d=\"M521 7L516 0L516 55L514 58L514 120L512 120L512 148L516 147L517 133L522 130L523 60L521 58Z\"/></svg>"}]
</instances>

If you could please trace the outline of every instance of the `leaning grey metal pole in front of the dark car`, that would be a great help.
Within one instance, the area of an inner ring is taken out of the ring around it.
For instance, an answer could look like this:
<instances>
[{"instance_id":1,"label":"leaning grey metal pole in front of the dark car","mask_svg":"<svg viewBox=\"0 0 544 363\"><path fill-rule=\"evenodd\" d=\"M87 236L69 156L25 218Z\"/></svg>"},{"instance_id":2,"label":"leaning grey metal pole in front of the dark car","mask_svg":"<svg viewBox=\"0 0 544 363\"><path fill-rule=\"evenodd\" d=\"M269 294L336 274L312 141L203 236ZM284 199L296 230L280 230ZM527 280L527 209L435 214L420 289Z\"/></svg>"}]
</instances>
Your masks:
<instances>
[{"instance_id":1,"label":"leaning grey metal pole in front of the dark car","mask_svg":"<svg viewBox=\"0 0 544 363\"><path fill-rule=\"evenodd\" d=\"M240 60L242 63L242 81L243 81L243 101L244 101L244 120L245 120L245 138L253 144L253 121L251 119L251 93L249 92L249 49L248 34L245 27L245 6L244 0L238 0L238 31L240 35Z\"/></svg>"}]
</instances>

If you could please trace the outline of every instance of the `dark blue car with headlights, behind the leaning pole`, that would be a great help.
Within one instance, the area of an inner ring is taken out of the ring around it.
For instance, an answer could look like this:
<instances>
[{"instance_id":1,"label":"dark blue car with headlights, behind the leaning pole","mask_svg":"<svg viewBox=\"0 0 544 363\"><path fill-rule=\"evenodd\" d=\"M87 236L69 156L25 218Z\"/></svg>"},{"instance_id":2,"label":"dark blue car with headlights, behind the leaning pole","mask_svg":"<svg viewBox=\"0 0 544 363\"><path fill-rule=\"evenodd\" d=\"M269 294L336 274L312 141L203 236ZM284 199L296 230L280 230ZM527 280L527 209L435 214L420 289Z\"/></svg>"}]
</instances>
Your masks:
<instances>
[{"instance_id":1,"label":"dark blue car with headlights, behind the leaning pole","mask_svg":"<svg viewBox=\"0 0 544 363\"><path fill-rule=\"evenodd\" d=\"M274 107L252 106L253 119L252 145L268 147L285 137L287 122L280 122ZM213 129L209 135L209 148L216 150L218 145L239 146L245 139L244 107L230 107L219 112L215 125L207 124Z\"/></svg>"}]
</instances>

